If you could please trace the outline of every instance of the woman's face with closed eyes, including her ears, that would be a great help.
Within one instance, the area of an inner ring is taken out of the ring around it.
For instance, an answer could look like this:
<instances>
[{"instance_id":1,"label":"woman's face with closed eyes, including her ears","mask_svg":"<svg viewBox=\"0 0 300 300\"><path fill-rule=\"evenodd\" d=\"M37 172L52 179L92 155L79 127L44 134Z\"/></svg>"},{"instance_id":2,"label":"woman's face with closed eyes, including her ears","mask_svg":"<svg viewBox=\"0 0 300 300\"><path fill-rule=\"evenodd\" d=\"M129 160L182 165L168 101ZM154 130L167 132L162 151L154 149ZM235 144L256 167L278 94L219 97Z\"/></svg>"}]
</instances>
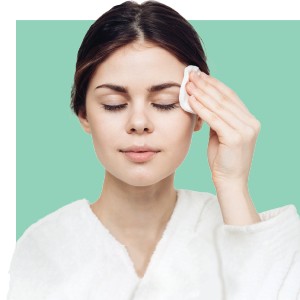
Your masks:
<instances>
[{"instance_id":1,"label":"woman's face with closed eyes, including her ears","mask_svg":"<svg viewBox=\"0 0 300 300\"><path fill-rule=\"evenodd\" d=\"M90 80L86 118L98 159L116 179L155 184L184 160L201 120L179 105L186 66L149 42L115 51Z\"/></svg>"}]
</instances>

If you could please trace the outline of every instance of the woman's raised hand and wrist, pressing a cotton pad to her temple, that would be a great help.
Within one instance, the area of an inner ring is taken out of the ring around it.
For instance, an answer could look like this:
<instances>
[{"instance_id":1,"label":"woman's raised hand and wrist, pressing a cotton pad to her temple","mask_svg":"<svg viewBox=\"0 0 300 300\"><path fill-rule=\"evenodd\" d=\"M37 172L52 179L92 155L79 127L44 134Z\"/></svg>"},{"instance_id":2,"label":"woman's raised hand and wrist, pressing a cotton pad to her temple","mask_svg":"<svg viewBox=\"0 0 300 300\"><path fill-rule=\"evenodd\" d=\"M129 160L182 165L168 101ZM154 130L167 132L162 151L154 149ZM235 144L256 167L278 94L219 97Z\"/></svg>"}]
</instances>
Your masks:
<instances>
[{"instance_id":1,"label":"woman's raised hand and wrist, pressing a cotton pad to her temple","mask_svg":"<svg viewBox=\"0 0 300 300\"><path fill-rule=\"evenodd\" d=\"M248 214L245 222L257 222L259 217L253 204L249 209L252 201L248 193L248 176L260 122L237 94L216 78L203 72L200 75L192 72L189 79L186 85L191 95L189 104L210 126L208 162L224 220L242 223L242 216L233 216L230 210L241 213L245 209L245 215Z\"/></svg>"}]
</instances>

